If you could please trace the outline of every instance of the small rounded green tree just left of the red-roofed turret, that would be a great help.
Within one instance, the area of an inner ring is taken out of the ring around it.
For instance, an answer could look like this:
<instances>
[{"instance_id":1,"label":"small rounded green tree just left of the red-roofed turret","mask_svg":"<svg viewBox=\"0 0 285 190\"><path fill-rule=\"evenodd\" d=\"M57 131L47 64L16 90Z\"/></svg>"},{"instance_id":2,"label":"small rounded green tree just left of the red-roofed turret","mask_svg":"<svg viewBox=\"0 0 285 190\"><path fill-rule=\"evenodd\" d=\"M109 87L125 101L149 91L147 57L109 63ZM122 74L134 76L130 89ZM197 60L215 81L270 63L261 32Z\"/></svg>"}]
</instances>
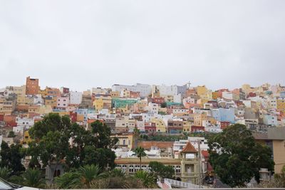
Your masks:
<instances>
[{"instance_id":1,"label":"small rounded green tree just left of the red-roofed turret","mask_svg":"<svg viewBox=\"0 0 285 190\"><path fill-rule=\"evenodd\" d=\"M160 176L162 179L168 178L172 179L175 175L175 170L171 166L165 166L161 162L150 162L150 171L152 171L155 176Z\"/></svg>"}]
</instances>

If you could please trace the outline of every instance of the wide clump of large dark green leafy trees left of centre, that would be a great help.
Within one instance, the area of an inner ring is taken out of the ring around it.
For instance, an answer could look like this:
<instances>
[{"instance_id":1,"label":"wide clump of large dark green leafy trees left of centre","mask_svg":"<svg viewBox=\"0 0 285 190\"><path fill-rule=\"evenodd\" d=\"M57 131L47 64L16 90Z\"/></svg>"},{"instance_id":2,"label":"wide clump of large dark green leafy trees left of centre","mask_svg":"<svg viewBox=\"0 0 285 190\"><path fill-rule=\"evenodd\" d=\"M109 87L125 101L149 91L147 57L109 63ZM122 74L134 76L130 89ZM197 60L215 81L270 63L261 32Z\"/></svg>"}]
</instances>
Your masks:
<instances>
[{"instance_id":1,"label":"wide clump of large dark green leafy trees left of centre","mask_svg":"<svg viewBox=\"0 0 285 190\"><path fill-rule=\"evenodd\" d=\"M29 130L33 138L27 150L30 167L38 167L38 158L44 166L65 160L67 170L97 163L101 168L115 167L115 152L110 148L118 139L110 137L110 127L102 122L95 121L91 127L92 132L55 113L36 122Z\"/></svg>"}]
</instances>

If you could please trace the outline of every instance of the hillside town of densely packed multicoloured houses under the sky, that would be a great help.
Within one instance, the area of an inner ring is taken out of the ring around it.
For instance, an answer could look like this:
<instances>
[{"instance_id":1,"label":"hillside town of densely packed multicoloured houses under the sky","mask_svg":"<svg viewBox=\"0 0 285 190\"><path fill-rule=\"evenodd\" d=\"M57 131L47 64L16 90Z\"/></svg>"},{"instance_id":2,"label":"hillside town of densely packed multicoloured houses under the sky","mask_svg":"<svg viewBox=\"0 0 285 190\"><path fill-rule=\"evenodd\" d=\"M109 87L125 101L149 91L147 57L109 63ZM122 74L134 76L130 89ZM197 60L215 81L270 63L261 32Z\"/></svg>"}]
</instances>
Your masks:
<instances>
[{"instance_id":1,"label":"hillside town of densely packed multicoloured houses under the sky","mask_svg":"<svg viewBox=\"0 0 285 190\"><path fill-rule=\"evenodd\" d=\"M0 89L0 142L7 144L27 147L28 130L49 113L67 115L86 130L100 121L118 138L113 147L116 168L132 174L156 161L173 167L176 181L199 184L202 175L214 173L207 134L241 124L272 150L274 171L261 170L261 179L280 173L285 164L285 86L280 84L210 90L190 82L137 83L78 92L72 87L43 88L40 79L27 77L21 86L7 85ZM145 149L141 163L136 147Z\"/></svg>"}]
</instances>

